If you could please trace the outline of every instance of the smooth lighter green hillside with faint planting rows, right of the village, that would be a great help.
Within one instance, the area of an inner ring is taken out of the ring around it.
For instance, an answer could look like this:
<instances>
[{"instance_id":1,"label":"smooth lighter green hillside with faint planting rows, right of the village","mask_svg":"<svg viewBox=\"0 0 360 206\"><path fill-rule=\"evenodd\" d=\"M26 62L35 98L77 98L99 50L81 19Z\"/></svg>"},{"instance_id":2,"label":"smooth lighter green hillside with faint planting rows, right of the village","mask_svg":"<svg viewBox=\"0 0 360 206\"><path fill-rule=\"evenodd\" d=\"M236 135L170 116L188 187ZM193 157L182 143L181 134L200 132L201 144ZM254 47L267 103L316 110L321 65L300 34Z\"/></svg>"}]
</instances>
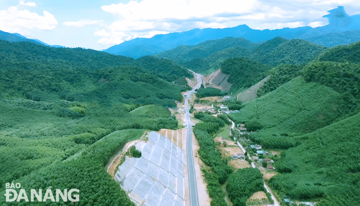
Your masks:
<instances>
[{"instance_id":1,"label":"smooth lighter green hillside with faint planting rows, right of the village","mask_svg":"<svg viewBox=\"0 0 360 206\"><path fill-rule=\"evenodd\" d=\"M237 122L258 120L264 129L256 136L271 137L323 128L341 116L342 104L331 88L297 77L229 116Z\"/></svg>"}]
</instances>

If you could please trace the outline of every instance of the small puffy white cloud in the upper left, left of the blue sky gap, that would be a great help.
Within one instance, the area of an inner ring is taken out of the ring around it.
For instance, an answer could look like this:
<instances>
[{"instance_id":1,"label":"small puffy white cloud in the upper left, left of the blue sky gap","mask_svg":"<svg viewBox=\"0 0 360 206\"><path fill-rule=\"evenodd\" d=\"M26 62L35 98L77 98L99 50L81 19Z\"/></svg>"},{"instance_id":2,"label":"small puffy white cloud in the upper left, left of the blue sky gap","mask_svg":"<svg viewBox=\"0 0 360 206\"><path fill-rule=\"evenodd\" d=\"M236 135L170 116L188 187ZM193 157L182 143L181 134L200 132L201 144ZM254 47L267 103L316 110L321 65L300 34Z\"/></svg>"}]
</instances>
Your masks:
<instances>
[{"instance_id":1,"label":"small puffy white cloud in the upper left, left of the blue sky gap","mask_svg":"<svg viewBox=\"0 0 360 206\"><path fill-rule=\"evenodd\" d=\"M53 30L58 24L54 15L43 11L43 16L28 10L19 10L11 6L7 10L0 10L0 30L27 35L31 29Z\"/></svg>"}]
</instances>

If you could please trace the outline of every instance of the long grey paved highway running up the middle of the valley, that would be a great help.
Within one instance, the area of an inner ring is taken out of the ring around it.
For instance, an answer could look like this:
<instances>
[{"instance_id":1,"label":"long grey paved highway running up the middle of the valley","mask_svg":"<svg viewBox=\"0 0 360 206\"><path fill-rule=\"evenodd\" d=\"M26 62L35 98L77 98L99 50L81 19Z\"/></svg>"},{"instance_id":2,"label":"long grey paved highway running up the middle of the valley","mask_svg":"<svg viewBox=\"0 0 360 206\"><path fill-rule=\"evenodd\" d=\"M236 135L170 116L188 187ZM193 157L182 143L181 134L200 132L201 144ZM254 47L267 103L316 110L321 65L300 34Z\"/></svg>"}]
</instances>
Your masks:
<instances>
[{"instance_id":1,"label":"long grey paved highway running up the middle of the valley","mask_svg":"<svg viewBox=\"0 0 360 206\"><path fill-rule=\"evenodd\" d=\"M188 139L186 142L186 154L188 159L188 174L189 174L189 194L190 194L190 205L199 206L199 197L196 185L196 175L195 175L195 166L194 166L194 156L193 156L193 136L192 136L192 125L190 121L190 112L189 112L189 98L196 89L201 86L201 75L197 74L198 84L189 91L185 97L185 116L186 116L186 127L188 129Z\"/></svg>"}]
</instances>

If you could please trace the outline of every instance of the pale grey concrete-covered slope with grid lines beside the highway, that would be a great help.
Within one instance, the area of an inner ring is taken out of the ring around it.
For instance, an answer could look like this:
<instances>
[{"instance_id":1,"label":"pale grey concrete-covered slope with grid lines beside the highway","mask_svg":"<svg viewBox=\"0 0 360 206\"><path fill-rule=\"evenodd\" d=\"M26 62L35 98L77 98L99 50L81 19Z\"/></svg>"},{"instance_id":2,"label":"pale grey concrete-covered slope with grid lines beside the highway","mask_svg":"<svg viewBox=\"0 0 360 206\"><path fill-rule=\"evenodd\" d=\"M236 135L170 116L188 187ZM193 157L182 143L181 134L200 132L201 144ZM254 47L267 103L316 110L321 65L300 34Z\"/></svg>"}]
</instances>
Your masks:
<instances>
[{"instance_id":1,"label":"pale grey concrete-covered slope with grid lines beside the highway","mask_svg":"<svg viewBox=\"0 0 360 206\"><path fill-rule=\"evenodd\" d=\"M130 200L143 206L185 206L181 148L156 132L135 147L141 157L126 156L114 177Z\"/></svg>"}]
</instances>

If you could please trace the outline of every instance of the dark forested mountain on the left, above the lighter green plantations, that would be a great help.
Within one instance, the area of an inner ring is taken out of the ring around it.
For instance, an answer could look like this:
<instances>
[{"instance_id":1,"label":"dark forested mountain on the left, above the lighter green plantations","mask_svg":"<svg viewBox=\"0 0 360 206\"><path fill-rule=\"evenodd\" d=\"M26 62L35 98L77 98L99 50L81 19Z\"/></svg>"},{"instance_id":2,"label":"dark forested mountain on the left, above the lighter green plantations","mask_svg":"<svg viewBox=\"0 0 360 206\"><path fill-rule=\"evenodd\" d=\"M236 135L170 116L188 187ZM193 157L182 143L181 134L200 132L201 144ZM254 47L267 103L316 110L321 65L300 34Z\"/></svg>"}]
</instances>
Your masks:
<instances>
[{"instance_id":1,"label":"dark forested mountain on the left, above the lighter green plantations","mask_svg":"<svg viewBox=\"0 0 360 206\"><path fill-rule=\"evenodd\" d=\"M175 104L171 103L174 99L182 98L181 87L167 81L191 77L186 68L168 60L134 60L95 50L30 42L0 41L0 59L1 95L35 101L57 98L170 106Z\"/></svg>"}]
</instances>

